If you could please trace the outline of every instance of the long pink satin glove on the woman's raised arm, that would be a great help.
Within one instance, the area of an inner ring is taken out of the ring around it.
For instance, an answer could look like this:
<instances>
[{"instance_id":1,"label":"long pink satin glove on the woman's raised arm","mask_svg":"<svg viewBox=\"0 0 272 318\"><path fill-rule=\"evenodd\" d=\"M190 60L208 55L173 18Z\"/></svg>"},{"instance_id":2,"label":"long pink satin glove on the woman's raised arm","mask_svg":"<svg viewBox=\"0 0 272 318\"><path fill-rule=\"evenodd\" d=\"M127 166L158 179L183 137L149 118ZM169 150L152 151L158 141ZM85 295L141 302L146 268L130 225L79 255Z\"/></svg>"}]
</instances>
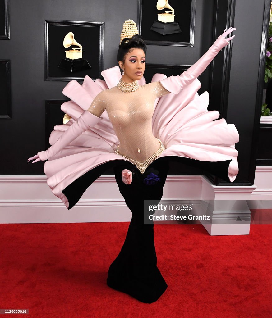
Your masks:
<instances>
[{"instance_id":1,"label":"long pink satin glove on the woman's raised arm","mask_svg":"<svg viewBox=\"0 0 272 318\"><path fill-rule=\"evenodd\" d=\"M229 44L229 40L235 37L235 35L233 35L232 37L225 39L225 36L234 30L236 30L236 28L230 27L228 30L225 29L223 34L219 35L214 44L194 65L190 66L188 70L183 72L181 75L172 75L166 79L161 79L159 81L161 85L169 92L177 94L184 86L191 84L201 73L205 71L218 52L224 46Z\"/></svg>"}]
</instances>

